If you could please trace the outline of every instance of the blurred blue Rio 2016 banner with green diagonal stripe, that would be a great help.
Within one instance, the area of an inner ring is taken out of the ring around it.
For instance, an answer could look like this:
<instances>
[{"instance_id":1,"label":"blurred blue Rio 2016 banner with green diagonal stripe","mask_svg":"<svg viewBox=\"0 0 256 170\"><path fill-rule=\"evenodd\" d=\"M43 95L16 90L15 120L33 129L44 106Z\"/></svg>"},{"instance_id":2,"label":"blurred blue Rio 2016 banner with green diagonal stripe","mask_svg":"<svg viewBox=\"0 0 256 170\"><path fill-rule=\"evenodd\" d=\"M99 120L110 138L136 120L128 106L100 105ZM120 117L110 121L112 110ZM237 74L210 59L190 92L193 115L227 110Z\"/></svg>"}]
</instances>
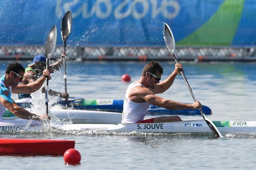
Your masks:
<instances>
[{"instance_id":1,"label":"blurred blue Rio 2016 banner with green diagonal stripe","mask_svg":"<svg viewBox=\"0 0 256 170\"><path fill-rule=\"evenodd\" d=\"M68 44L91 47L164 47L163 23L177 45L256 45L255 0L2 0L0 45L44 45L71 11Z\"/></svg>"}]
</instances>

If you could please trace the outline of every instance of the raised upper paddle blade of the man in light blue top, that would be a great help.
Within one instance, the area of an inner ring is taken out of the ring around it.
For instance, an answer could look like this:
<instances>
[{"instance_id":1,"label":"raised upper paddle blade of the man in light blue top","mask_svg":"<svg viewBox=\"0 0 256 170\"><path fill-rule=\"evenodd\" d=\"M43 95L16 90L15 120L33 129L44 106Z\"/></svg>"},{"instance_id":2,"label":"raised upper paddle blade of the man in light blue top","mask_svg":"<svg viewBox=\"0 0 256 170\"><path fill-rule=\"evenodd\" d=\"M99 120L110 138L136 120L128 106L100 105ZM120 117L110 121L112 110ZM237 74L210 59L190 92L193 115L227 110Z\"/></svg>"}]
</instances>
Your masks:
<instances>
[{"instance_id":1,"label":"raised upper paddle blade of the man in light blue top","mask_svg":"<svg viewBox=\"0 0 256 170\"><path fill-rule=\"evenodd\" d=\"M47 36L47 42L45 45L45 55L47 58L50 58L52 56L55 49L56 40L57 40L57 29L56 29L56 26L54 25Z\"/></svg>"}]
</instances>

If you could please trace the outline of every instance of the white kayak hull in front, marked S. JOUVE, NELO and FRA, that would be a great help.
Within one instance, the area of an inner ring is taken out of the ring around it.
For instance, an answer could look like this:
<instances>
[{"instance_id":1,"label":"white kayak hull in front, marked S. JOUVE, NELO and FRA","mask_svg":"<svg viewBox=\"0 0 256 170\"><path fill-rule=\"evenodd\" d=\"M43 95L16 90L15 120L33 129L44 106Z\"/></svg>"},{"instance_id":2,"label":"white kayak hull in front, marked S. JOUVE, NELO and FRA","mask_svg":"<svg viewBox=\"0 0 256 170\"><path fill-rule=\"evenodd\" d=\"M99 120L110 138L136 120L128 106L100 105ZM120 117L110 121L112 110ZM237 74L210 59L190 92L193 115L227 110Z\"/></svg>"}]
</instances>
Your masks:
<instances>
[{"instance_id":1,"label":"white kayak hull in front, marked S. JOUVE, NELO and FRA","mask_svg":"<svg viewBox=\"0 0 256 170\"><path fill-rule=\"evenodd\" d=\"M29 124L17 120L0 121L1 133L43 130L44 125ZM7 121L7 122L6 122ZM213 121L221 133L256 133L256 121ZM57 130L105 130L108 132L151 132L151 133L203 133L212 132L204 120L187 120L166 123L131 124L63 124L50 125Z\"/></svg>"}]
</instances>

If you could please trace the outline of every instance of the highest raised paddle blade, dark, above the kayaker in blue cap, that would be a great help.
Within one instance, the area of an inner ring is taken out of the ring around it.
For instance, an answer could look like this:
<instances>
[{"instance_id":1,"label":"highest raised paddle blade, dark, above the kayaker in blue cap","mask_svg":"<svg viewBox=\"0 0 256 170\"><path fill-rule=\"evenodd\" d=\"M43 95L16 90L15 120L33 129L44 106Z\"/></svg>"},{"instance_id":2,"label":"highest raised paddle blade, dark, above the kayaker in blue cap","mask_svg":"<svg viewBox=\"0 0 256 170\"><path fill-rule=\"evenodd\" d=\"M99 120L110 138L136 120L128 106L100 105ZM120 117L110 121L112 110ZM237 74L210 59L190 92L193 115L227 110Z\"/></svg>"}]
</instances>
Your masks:
<instances>
[{"instance_id":1,"label":"highest raised paddle blade, dark, above the kayaker in blue cap","mask_svg":"<svg viewBox=\"0 0 256 170\"><path fill-rule=\"evenodd\" d=\"M71 26L72 26L72 16L71 12L67 11L67 13L64 15L64 17L61 20L61 37L62 40L67 40L68 36L71 32Z\"/></svg>"}]
</instances>

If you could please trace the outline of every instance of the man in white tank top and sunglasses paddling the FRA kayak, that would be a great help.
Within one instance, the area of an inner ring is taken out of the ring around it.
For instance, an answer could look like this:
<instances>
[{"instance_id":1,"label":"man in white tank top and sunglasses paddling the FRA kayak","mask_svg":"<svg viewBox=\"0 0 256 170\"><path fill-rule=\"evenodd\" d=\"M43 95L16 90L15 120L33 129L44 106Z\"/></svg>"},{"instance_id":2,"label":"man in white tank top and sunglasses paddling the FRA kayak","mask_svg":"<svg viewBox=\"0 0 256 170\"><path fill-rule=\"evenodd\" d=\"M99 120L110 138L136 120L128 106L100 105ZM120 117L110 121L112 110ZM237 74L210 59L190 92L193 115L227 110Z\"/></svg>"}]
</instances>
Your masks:
<instances>
[{"instance_id":1,"label":"man in white tank top and sunglasses paddling the FRA kayak","mask_svg":"<svg viewBox=\"0 0 256 170\"><path fill-rule=\"evenodd\" d=\"M125 93L123 105L122 123L158 123L182 121L179 116L159 116L151 119L144 119L149 104L157 105L166 109L198 109L202 105L199 101L193 104L185 104L163 99L155 94L163 93L172 83L183 66L180 63L175 65L175 69L167 79L160 82L163 74L162 66L152 61L143 68L140 79L131 83Z\"/></svg>"}]
</instances>

